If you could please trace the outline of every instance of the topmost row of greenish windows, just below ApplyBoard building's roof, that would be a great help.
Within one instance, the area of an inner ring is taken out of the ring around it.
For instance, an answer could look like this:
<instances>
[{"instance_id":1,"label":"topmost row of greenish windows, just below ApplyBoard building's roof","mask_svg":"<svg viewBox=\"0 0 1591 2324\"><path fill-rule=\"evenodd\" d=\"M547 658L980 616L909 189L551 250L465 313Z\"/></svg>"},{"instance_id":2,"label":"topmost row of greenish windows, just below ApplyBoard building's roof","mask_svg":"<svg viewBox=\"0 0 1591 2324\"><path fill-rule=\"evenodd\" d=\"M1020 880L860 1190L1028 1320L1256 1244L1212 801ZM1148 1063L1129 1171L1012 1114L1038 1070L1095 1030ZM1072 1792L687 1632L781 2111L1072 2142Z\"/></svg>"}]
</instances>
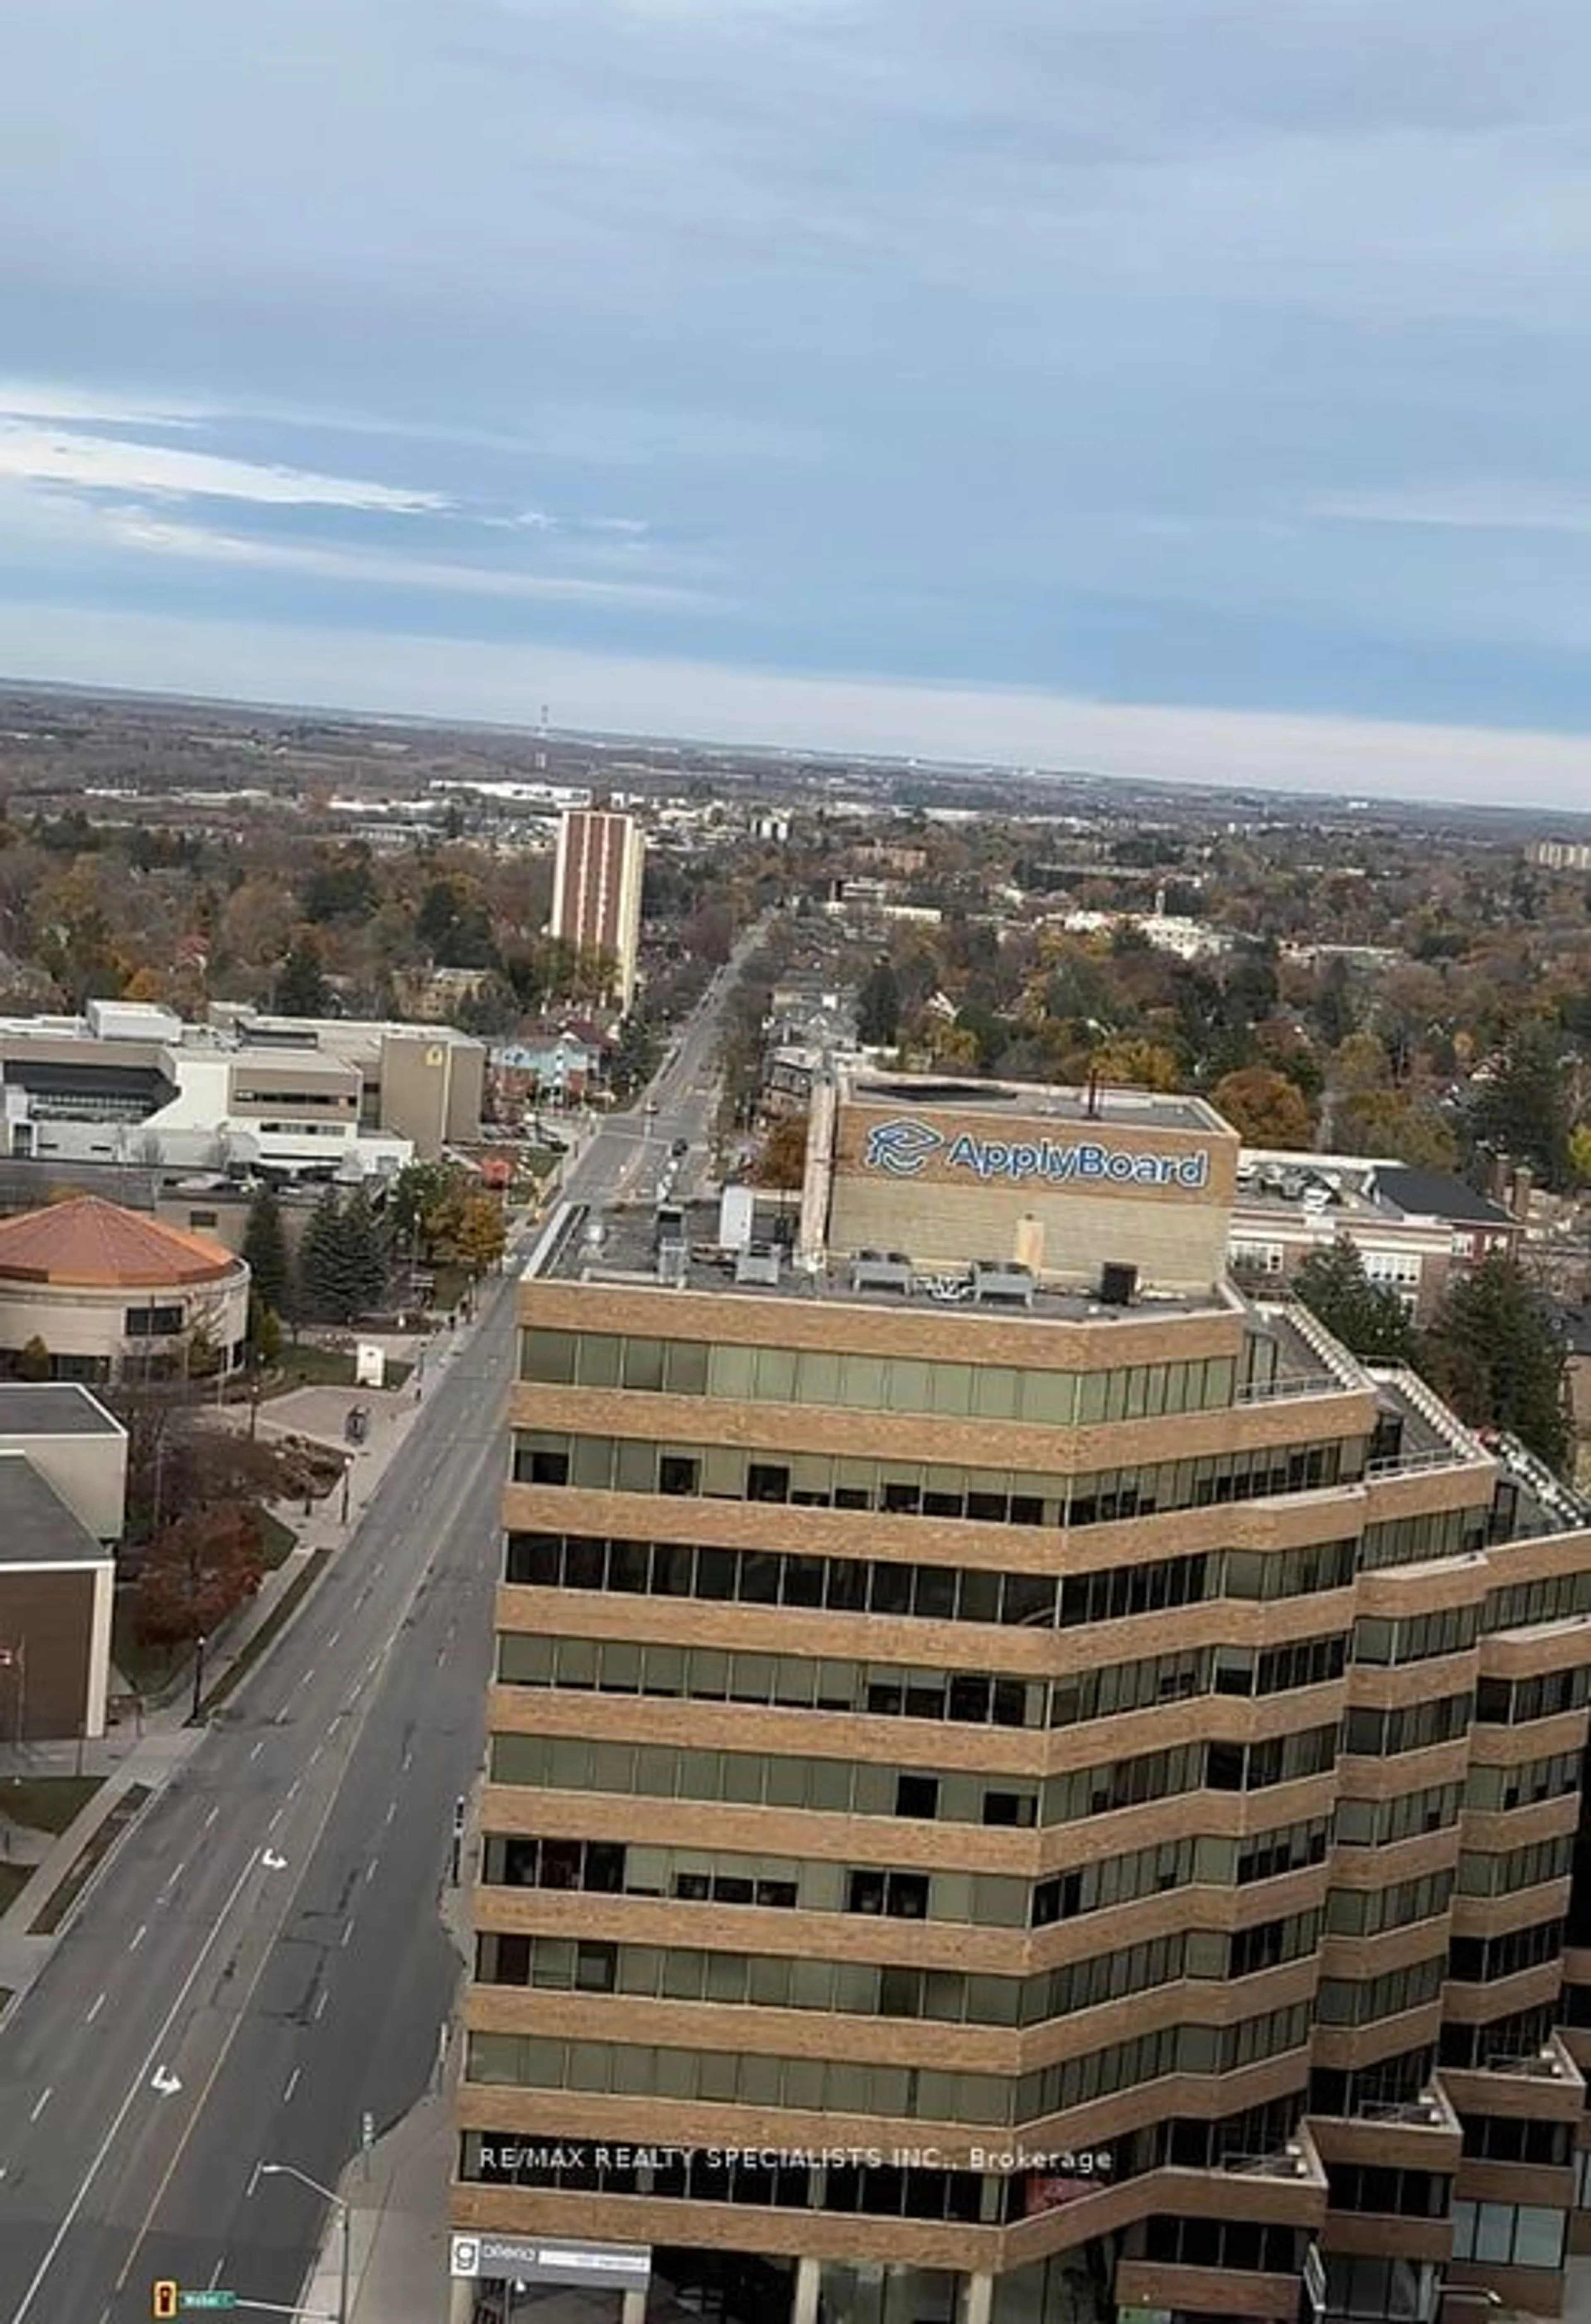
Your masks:
<instances>
[{"instance_id":1,"label":"topmost row of greenish windows, just below ApplyBoard building's roof","mask_svg":"<svg viewBox=\"0 0 1591 2324\"><path fill-rule=\"evenodd\" d=\"M720 1404L825 1404L864 1413L934 1413L945 1420L1029 1420L1064 1429L1226 1411L1236 1373L1231 1355L1115 1371L1031 1371L829 1348L520 1332L520 1378L548 1387L627 1387L713 1397Z\"/></svg>"}]
</instances>

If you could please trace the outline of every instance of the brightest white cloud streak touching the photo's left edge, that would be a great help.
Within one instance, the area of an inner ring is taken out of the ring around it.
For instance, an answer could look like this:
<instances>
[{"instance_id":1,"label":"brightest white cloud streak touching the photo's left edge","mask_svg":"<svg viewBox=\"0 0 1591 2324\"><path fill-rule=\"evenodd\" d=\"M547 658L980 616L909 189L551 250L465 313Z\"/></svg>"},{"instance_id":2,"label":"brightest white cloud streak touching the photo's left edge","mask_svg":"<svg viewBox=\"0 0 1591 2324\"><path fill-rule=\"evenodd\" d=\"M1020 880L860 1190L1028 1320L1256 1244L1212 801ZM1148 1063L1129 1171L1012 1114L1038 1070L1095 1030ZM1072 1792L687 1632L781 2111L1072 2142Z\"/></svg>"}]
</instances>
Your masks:
<instances>
[{"instance_id":1,"label":"brightest white cloud streak touching the photo's left edge","mask_svg":"<svg viewBox=\"0 0 1591 2324\"><path fill-rule=\"evenodd\" d=\"M318 476L302 467L228 460L177 444L128 444L77 428L42 428L0 418L0 476L86 493L158 493L177 497L253 500L269 507L381 509L399 516L448 509L441 493Z\"/></svg>"}]
</instances>

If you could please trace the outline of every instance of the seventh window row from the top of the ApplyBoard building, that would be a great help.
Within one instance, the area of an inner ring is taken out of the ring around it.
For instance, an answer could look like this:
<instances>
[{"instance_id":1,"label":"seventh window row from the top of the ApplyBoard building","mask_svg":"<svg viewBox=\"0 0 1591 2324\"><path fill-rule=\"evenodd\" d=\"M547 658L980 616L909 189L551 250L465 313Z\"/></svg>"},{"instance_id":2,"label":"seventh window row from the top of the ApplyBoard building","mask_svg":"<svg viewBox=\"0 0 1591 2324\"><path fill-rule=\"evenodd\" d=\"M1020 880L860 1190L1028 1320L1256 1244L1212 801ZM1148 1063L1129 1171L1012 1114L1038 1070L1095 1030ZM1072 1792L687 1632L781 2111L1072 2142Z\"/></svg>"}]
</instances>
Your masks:
<instances>
[{"instance_id":1,"label":"seventh window row from the top of the ApplyBoard building","mask_svg":"<svg viewBox=\"0 0 1591 2324\"><path fill-rule=\"evenodd\" d=\"M852 1896L890 1875L852 1871ZM906 1875L913 1878L913 1875ZM922 1875L915 1875L922 1878ZM927 1885L927 1882L924 1882ZM852 1903L883 1910L883 1903ZM980 1978L952 1968L806 1961L762 1952L613 1945L562 1936L483 1934L476 1975L483 1985L530 1985L576 1994L639 1994L650 2001L715 2001L739 2008L827 2010L857 2017L934 2017L945 2024L1041 2027L1106 2001L1175 1985L1182 1978L1252 1978L1315 1952L1319 1913L1289 1913L1229 1934L1178 1929L1138 1945L1115 1945L1031 1978Z\"/></svg>"}]
</instances>

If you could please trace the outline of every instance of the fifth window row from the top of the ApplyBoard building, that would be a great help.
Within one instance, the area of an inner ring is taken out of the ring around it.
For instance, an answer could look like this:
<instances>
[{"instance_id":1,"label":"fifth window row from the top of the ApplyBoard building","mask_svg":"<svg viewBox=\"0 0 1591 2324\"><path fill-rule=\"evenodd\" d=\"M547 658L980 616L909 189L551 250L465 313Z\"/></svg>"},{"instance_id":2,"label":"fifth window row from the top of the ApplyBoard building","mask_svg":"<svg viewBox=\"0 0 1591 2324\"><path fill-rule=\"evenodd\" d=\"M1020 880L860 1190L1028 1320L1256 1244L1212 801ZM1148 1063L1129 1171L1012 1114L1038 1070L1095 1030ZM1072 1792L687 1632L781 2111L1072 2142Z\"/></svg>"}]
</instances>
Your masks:
<instances>
[{"instance_id":1,"label":"fifth window row from the top of the ApplyBoard building","mask_svg":"<svg viewBox=\"0 0 1591 2324\"><path fill-rule=\"evenodd\" d=\"M1048 1776L1038 1785L1038 1822L1071 1824L1113 1815L1182 1792L1264 1792L1336 1766L1338 1729L1303 1727L1264 1743L1182 1743L1106 1766ZM585 1743L562 1736L492 1736L492 1783L550 1792L734 1801L743 1808L822 1808L832 1815L899 1815L894 1769L850 1759L797 1759L773 1752L685 1750L660 1743ZM941 1813L955 1799L941 1776ZM964 1778L966 1783L966 1778ZM973 1778L976 1783L976 1778ZM987 1792L987 1787L985 1787ZM999 1787L1001 1799L1022 1789ZM957 1817L959 1820L959 1817ZM973 1817L987 1822L985 1813ZM1022 1820L1020 1810L1006 1822ZM1029 1817L1031 1820L1031 1817Z\"/></svg>"}]
</instances>

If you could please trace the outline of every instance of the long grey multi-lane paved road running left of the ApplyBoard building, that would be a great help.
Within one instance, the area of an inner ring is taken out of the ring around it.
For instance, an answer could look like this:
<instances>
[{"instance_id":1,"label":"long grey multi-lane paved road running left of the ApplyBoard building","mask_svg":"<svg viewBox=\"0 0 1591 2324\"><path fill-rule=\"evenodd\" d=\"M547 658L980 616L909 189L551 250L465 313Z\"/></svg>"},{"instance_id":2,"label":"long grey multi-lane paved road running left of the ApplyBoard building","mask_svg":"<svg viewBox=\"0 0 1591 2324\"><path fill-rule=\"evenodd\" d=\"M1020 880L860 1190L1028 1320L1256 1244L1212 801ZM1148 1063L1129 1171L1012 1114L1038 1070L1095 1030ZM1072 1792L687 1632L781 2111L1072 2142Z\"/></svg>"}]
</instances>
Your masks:
<instances>
[{"instance_id":1,"label":"long grey multi-lane paved road running left of the ApplyBoard building","mask_svg":"<svg viewBox=\"0 0 1591 2324\"><path fill-rule=\"evenodd\" d=\"M646 1195L674 1139L701 1150L729 983L683 1027L655 1111L569 1164L571 1199ZM304 1615L0 2033L0 2324L132 2324L165 2275L290 2308L325 2203L258 2164L334 2185L362 2115L395 2122L437 2071L511 1353L502 1278Z\"/></svg>"}]
</instances>

